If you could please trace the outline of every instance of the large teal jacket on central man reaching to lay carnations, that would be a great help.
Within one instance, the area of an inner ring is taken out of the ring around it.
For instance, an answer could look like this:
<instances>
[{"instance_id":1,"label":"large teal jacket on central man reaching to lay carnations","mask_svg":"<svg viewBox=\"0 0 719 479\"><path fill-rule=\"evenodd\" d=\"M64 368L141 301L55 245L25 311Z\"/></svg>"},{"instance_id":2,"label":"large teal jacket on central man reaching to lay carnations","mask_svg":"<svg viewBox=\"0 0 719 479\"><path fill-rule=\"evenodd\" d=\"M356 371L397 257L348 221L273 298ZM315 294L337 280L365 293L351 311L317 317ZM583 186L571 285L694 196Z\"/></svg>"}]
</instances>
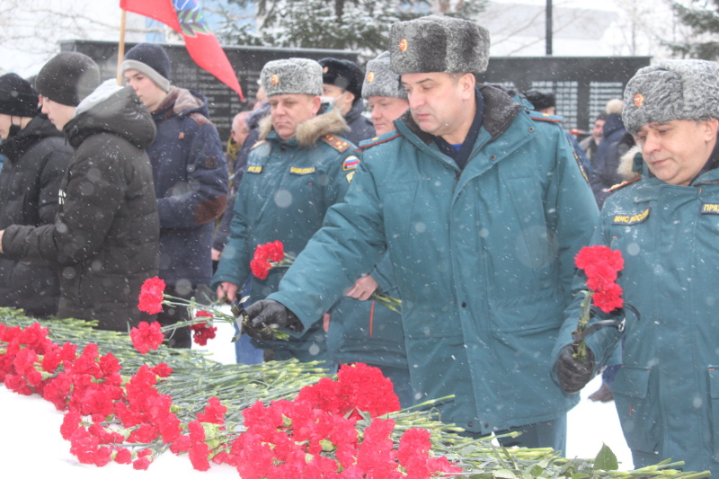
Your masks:
<instances>
[{"instance_id":1,"label":"large teal jacket on central man reaching to lay carnations","mask_svg":"<svg viewBox=\"0 0 719 479\"><path fill-rule=\"evenodd\" d=\"M396 120L270 297L310 324L388 250L414 391L456 395L442 421L484 433L555 419L578 400L552 381L550 352L598 211L559 124L499 88L481 93L464 171L409 114Z\"/></svg>"}]
</instances>

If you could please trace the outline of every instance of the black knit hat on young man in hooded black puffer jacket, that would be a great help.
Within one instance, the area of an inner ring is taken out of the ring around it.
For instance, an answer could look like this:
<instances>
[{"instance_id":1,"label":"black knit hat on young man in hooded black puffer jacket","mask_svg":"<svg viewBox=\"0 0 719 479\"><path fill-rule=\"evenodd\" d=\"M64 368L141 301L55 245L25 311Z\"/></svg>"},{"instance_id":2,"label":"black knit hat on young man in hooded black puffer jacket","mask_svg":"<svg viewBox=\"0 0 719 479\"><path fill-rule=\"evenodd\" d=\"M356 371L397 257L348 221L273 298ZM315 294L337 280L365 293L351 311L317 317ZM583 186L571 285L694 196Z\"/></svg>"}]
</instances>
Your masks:
<instances>
[{"instance_id":1,"label":"black knit hat on young man in hooded black puffer jacket","mask_svg":"<svg viewBox=\"0 0 719 479\"><path fill-rule=\"evenodd\" d=\"M53 102L77 106L100 85L100 67L93 58L65 51L51 58L35 79L35 89Z\"/></svg>"}]
</instances>

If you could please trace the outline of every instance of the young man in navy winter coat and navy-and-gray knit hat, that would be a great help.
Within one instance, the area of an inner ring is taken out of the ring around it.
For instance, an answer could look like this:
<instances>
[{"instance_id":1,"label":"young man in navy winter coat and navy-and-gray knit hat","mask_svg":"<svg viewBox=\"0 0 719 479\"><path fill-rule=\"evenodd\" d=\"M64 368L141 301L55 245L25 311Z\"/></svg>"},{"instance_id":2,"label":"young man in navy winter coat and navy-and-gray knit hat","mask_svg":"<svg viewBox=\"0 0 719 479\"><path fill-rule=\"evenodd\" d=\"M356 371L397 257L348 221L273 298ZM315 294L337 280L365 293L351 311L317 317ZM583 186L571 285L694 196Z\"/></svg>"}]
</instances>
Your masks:
<instances>
[{"instance_id":1,"label":"young man in navy winter coat and navy-and-gray knit hat","mask_svg":"<svg viewBox=\"0 0 719 479\"><path fill-rule=\"evenodd\" d=\"M160 213L160 278L173 297L209 297L215 219L225 211L228 174L222 142L208 119L201 94L170 84L170 58L153 43L129 49L120 69L157 127L147 147ZM204 294L203 294L204 291ZM184 307L164 306L160 324L188 319ZM189 348L187 327L168 335L168 345Z\"/></svg>"}]
</instances>

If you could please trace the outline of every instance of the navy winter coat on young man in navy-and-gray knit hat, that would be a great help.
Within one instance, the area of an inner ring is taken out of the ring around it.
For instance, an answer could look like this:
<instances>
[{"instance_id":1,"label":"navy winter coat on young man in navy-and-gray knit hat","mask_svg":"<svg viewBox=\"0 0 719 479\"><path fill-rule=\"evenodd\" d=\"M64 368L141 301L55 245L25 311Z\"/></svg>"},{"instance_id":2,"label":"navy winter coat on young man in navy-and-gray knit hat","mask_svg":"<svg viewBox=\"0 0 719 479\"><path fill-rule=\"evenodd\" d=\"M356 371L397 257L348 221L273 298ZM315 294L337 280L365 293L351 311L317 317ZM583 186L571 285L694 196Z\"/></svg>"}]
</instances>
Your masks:
<instances>
[{"instance_id":1,"label":"navy winter coat on young man in navy-and-gray knit hat","mask_svg":"<svg viewBox=\"0 0 719 479\"><path fill-rule=\"evenodd\" d=\"M227 167L207 99L172 87L152 115L155 143L147 147L160 214L160 278L196 287L212 278L215 219L227 203Z\"/></svg>"}]
</instances>

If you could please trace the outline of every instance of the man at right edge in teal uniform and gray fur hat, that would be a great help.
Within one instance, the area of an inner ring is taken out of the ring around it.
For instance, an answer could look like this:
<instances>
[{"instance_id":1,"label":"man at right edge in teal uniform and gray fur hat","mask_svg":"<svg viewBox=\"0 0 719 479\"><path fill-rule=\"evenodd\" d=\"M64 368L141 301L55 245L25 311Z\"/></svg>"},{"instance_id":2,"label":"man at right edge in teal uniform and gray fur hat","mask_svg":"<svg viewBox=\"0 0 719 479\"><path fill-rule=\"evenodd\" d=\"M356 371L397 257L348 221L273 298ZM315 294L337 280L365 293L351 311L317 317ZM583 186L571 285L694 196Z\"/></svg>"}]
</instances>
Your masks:
<instances>
[{"instance_id":1,"label":"man at right edge in teal uniform and gray fur hat","mask_svg":"<svg viewBox=\"0 0 719 479\"><path fill-rule=\"evenodd\" d=\"M640 69L626 85L622 118L642 148L642 176L614 188L592 240L622 252L617 282L641 314L626 317L623 367L611 386L619 420L635 468L671 458L719 474L719 66L674 60ZM555 350L567 391L595 372L566 354L576 324L569 315ZM616 335L590 335L592 356L606 356Z\"/></svg>"}]
</instances>

